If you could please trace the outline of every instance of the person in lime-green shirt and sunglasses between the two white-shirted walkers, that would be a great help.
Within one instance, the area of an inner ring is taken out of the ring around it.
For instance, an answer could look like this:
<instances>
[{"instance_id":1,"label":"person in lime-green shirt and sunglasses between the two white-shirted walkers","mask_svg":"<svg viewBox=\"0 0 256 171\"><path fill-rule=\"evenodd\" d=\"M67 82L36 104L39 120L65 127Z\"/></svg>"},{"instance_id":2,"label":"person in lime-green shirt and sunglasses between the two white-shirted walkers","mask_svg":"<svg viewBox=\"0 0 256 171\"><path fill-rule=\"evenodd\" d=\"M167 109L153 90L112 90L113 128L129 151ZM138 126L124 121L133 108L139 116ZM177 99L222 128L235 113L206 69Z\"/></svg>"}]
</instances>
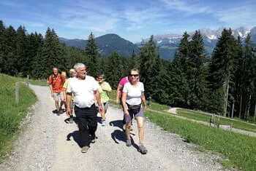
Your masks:
<instances>
[{"instance_id":1,"label":"person in lime-green shirt and sunglasses between the two white-shirted walkers","mask_svg":"<svg viewBox=\"0 0 256 171\"><path fill-rule=\"evenodd\" d=\"M108 84L108 82L105 81L105 76L104 74L101 74L98 76L98 80L99 80L99 95L100 95L100 100L102 103L102 108L103 111L101 113L102 116L102 126L106 125L106 116L105 114L107 113L108 110L108 93L112 92L112 89L110 87L110 84Z\"/></svg>"}]
</instances>

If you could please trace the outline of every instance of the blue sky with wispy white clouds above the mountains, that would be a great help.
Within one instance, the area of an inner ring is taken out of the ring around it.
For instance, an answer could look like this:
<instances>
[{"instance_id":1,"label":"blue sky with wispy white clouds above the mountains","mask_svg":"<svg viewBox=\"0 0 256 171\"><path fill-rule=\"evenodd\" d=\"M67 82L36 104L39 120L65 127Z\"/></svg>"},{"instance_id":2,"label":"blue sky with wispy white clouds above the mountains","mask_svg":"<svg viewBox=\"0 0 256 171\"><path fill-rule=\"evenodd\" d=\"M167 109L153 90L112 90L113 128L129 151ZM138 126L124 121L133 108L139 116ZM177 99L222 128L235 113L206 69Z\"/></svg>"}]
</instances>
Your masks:
<instances>
[{"instance_id":1,"label":"blue sky with wispy white clouds above the mountains","mask_svg":"<svg viewBox=\"0 0 256 171\"><path fill-rule=\"evenodd\" d=\"M24 25L45 35L53 28L67 39L116 33L139 42L151 35L219 27L256 26L256 0L1 0L5 26Z\"/></svg>"}]
</instances>

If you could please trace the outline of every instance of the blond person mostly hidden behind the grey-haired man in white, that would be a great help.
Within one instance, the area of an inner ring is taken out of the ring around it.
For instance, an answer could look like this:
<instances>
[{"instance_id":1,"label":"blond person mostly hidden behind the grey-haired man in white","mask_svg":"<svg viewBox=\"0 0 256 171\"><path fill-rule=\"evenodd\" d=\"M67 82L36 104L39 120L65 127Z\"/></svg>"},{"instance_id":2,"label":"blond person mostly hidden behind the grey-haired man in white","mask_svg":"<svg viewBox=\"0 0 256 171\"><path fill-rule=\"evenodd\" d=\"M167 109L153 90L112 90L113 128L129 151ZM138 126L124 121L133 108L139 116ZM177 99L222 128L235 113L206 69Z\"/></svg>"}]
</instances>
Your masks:
<instances>
[{"instance_id":1,"label":"blond person mostly hidden behind the grey-haired man in white","mask_svg":"<svg viewBox=\"0 0 256 171\"><path fill-rule=\"evenodd\" d=\"M75 69L70 69L70 70L69 70L69 75L70 75L70 78L69 78L69 79L71 79L71 78L73 78L74 76L76 76L76 74L77 74L77 73L76 73ZM67 85L68 85L68 83L69 83L69 79L67 79L67 80L65 81L64 85L63 85L64 99L65 99L65 101L66 101L66 104L67 104L67 95L66 95L66 93L67 93ZM71 98L71 101L70 101L70 104L69 104L69 107L70 107L70 115L68 115L67 112L66 112L67 116L69 116L69 124L72 124L72 123L74 122L74 119L73 119L73 108L74 108L73 100L74 100L74 95L73 95L73 93L72 93L72 98ZM66 105L66 111L67 111L67 105Z\"/></svg>"}]
</instances>

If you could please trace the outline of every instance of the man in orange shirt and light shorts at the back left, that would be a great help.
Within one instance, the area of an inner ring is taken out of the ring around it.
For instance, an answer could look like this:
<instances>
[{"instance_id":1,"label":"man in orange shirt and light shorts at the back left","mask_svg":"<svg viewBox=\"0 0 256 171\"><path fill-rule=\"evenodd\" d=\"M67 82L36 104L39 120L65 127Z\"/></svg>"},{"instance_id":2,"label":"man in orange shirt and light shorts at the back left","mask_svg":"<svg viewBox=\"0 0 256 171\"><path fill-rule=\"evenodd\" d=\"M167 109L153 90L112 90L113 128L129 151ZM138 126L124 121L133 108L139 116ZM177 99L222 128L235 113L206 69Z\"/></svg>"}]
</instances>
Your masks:
<instances>
[{"instance_id":1,"label":"man in orange shirt and light shorts at the back left","mask_svg":"<svg viewBox=\"0 0 256 171\"><path fill-rule=\"evenodd\" d=\"M51 97L55 101L56 106L56 114L64 113L61 108L64 104L64 92L63 92L63 84L65 82L64 76L61 76L58 73L58 68L53 68L53 75L49 76L48 83L50 87ZM61 99L61 104L59 106L59 98Z\"/></svg>"}]
</instances>

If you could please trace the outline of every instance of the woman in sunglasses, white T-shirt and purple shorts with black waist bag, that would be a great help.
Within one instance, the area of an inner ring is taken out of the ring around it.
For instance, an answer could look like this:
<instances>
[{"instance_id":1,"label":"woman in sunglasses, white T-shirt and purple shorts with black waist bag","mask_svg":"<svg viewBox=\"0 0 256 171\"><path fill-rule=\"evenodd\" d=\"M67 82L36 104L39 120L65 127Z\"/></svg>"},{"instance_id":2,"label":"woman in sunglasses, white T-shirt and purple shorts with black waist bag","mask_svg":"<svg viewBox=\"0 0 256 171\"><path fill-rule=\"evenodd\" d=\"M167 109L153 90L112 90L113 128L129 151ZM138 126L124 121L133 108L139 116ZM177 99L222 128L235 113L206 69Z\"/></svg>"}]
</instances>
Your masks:
<instances>
[{"instance_id":1,"label":"woman in sunglasses, white T-shirt and purple shorts with black waist bag","mask_svg":"<svg viewBox=\"0 0 256 171\"><path fill-rule=\"evenodd\" d=\"M127 146L132 146L130 138L130 127L131 121L135 116L138 124L138 134L139 134L139 148L138 151L142 154L147 153L147 149L143 146L143 112L146 111L146 99L144 95L144 85L142 82L138 81L139 71L133 68L129 72L129 82L124 84L123 95L122 95L122 105L124 108L124 117L126 122L126 135L127 135ZM143 103L143 108L141 103Z\"/></svg>"}]
</instances>

